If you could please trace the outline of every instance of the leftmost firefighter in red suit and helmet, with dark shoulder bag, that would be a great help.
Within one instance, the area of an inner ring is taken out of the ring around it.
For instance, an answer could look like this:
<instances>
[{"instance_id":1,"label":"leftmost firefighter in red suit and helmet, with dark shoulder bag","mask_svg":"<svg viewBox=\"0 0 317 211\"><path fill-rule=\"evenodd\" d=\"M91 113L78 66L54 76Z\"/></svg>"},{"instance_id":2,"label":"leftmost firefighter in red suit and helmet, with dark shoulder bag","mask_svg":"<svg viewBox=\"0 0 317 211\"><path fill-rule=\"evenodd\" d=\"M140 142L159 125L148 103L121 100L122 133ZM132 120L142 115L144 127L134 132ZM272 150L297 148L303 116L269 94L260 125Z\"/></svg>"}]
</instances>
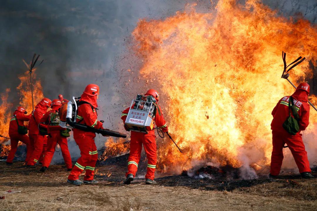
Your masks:
<instances>
[{"instance_id":1,"label":"leftmost firefighter in red suit and helmet, with dark shoulder bag","mask_svg":"<svg viewBox=\"0 0 317 211\"><path fill-rule=\"evenodd\" d=\"M27 136L26 134L21 134L21 132L19 133L18 131L18 125L25 127L24 121L30 120L30 115L26 115L26 114L27 112L25 111L25 109L19 106L13 113L13 116L10 120L9 136L10 136L11 149L6 161L8 165L12 164L14 154L16 153L19 141L21 141L23 144L26 145L27 153L26 153L25 160L29 159L30 157L29 136ZM25 132L27 132L27 130L25 130Z\"/></svg>"}]
</instances>

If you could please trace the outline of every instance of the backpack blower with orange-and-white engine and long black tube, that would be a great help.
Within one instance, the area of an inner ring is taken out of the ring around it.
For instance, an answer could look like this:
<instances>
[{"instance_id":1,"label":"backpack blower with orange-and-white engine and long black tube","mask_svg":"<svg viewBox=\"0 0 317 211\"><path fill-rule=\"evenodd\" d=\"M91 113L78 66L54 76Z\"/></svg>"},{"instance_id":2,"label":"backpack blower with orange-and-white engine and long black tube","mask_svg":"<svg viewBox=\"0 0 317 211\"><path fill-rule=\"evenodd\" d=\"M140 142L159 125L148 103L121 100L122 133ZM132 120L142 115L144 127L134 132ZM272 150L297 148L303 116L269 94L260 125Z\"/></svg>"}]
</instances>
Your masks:
<instances>
[{"instance_id":1,"label":"backpack blower with orange-and-white engine and long black tube","mask_svg":"<svg viewBox=\"0 0 317 211\"><path fill-rule=\"evenodd\" d=\"M108 130L108 129L96 129L92 127L88 127L87 125L80 124L76 122L76 116L77 116L77 109L78 109L78 101L76 99L80 98L75 98L73 97L72 102L68 102L67 104L64 104L61 106L59 110L59 116L60 116L60 124L59 126L63 128L69 128L69 129L79 129L87 132L94 132L94 133L100 133L101 135L109 135L109 136L114 136L114 137L120 137L120 138L126 138L126 134L119 133L116 131Z\"/></svg>"}]
</instances>

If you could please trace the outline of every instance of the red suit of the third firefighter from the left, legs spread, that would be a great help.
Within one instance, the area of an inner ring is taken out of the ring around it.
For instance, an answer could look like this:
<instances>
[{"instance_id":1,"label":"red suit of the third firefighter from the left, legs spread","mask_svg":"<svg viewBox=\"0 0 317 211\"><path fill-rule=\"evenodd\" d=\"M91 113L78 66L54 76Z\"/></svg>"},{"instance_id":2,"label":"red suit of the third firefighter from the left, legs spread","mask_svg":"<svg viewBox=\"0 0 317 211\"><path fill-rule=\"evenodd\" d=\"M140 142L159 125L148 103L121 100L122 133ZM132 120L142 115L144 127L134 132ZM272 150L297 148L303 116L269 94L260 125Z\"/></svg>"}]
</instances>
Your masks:
<instances>
[{"instance_id":1,"label":"red suit of the third firefighter from the left, legs spread","mask_svg":"<svg viewBox=\"0 0 317 211\"><path fill-rule=\"evenodd\" d=\"M44 152L42 166L49 167L49 164L51 163L55 152L55 147L58 144L61 147L61 153L64 158L66 168L71 169L72 158L68 150L67 138L61 136L61 130L65 130L65 128L62 128L58 125L53 126L50 124L49 120L50 114L58 112L59 108L61 108L61 106L52 106L52 110L46 112L40 120L40 122L44 122L44 124L41 124L41 126L46 128L47 132L49 133L47 140L47 149Z\"/></svg>"}]
</instances>

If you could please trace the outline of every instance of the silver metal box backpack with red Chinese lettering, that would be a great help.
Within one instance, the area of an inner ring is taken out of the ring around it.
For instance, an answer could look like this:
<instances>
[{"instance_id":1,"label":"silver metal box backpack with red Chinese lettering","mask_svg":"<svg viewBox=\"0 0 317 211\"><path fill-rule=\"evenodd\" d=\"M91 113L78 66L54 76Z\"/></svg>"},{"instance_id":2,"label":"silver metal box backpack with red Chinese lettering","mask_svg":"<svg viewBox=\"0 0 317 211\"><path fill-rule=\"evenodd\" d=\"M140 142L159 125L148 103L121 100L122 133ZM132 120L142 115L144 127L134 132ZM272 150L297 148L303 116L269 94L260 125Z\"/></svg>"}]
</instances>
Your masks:
<instances>
[{"instance_id":1,"label":"silver metal box backpack with red Chinese lettering","mask_svg":"<svg viewBox=\"0 0 317 211\"><path fill-rule=\"evenodd\" d=\"M156 110L156 100L153 96L137 95L126 117L126 128L129 131L148 133L154 127Z\"/></svg>"}]
</instances>

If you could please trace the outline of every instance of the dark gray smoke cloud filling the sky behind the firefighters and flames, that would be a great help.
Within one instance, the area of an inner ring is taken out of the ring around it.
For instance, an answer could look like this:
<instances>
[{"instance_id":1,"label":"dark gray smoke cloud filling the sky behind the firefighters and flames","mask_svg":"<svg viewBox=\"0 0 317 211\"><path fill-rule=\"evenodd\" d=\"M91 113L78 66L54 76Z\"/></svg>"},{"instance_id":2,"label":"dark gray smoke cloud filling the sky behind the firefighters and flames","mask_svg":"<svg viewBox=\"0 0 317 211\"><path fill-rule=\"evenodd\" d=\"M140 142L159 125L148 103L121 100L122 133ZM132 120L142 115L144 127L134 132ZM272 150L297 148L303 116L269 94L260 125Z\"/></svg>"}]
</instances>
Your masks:
<instances>
[{"instance_id":1,"label":"dark gray smoke cloud filling the sky behind the firefighters and flames","mask_svg":"<svg viewBox=\"0 0 317 211\"><path fill-rule=\"evenodd\" d=\"M264 0L279 14L302 16L316 23L315 0ZM33 53L41 55L43 64L37 70L43 92L50 99L63 94L65 98L80 96L87 84L100 86L100 120L104 127L123 131L120 113L144 90L125 89L120 84L122 71L134 67L136 79L137 58L128 49L131 32L140 18L165 19L176 11L183 11L187 3L197 3L198 12L210 12L216 5L209 0L3 0L0 8L0 92L11 88L10 101L19 102L17 76L26 71L22 59L30 61ZM131 56L132 59L126 57ZM126 79L128 80L128 79ZM141 84L141 82L140 82ZM138 85L137 87L141 87ZM71 139L72 140L72 139ZM106 138L97 135L98 148ZM72 157L79 156L74 141L69 141ZM61 153L60 153L61 154ZM55 153L55 161L61 155Z\"/></svg>"}]
</instances>

